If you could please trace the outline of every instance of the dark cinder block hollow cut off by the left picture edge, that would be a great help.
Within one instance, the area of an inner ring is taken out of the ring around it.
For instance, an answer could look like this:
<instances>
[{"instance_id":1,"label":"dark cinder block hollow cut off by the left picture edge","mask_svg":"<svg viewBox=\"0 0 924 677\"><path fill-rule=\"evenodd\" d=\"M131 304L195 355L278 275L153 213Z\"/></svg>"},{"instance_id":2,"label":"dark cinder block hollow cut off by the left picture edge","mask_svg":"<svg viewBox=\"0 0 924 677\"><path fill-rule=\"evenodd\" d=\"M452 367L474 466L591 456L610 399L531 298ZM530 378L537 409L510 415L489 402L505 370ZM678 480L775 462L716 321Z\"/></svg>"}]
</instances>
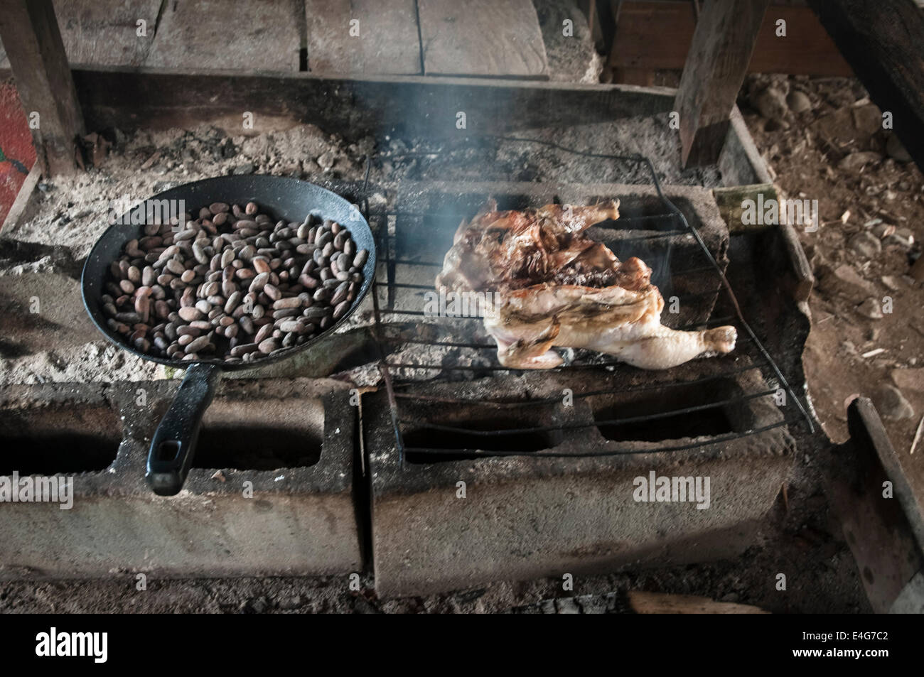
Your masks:
<instances>
[{"instance_id":1,"label":"dark cinder block hollow cut off by the left picture edge","mask_svg":"<svg viewBox=\"0 0 924 677\"><path fill-rule=\"evenodd\" d=\"M118 415L105 406L5 410L0 412L0 475L105 470L121 442Z\"/></svg>"}]
</instances>

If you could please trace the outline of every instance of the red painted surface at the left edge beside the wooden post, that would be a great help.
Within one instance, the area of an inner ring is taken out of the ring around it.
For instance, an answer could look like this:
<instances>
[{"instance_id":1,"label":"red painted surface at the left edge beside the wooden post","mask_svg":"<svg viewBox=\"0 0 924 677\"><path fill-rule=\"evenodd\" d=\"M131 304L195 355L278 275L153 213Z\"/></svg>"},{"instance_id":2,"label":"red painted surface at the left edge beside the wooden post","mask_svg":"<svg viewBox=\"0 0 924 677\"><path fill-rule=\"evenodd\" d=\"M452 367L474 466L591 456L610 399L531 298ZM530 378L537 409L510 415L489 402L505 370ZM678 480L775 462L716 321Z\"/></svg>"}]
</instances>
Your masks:
<instances>
[{"instance_id":1,"label":"red painted surface at the left edge beside the wooden post","mask_svg":"<svg viewBox=\"0 0 924 677\"><path fill-rule=\"evenodd\" d=\"M35 164L35 148L16 88L0 83L0 224Z\"/></svg>"}]
</instances>

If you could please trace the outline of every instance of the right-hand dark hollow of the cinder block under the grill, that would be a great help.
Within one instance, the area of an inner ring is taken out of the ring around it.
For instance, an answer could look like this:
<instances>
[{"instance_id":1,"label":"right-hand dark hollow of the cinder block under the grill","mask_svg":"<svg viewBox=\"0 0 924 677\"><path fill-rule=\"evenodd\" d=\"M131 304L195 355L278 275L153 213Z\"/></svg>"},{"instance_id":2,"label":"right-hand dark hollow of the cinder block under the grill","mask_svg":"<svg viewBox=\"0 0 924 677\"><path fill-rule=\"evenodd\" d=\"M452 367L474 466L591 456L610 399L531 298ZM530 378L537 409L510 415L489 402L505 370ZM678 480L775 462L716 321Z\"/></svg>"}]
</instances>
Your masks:
<instances>
[{"instance_id":1,"label":"right-hand dark hollow of the cinder block under the grill","mask_svg":"<svg viewBox=\"0 0 924 677\"><path fill-rule=\"evenodd\" d=\"M736 390L732 381L712 382L706 387L674 386L661 392L636 395L631 400L610 396L607 401L591 402L591 407L597 429L607 440L715 437L747 429L747 417L733 410L745 407L739 402L723 404L736 398L739 394ZM698 408L684 411L691 407Z\"/></svg>"}]
</instances>

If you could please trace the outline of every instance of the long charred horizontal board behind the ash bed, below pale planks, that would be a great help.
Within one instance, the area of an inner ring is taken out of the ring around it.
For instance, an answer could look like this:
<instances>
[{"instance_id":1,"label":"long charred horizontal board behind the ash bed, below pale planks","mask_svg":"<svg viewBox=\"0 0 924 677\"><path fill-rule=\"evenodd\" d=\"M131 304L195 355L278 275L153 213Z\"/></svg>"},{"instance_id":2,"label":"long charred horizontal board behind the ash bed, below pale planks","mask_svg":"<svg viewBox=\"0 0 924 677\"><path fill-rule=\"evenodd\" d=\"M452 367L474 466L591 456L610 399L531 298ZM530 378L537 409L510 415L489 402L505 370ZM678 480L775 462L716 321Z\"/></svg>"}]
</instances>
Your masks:
<instances>
[{"instance_id":1,"label":"long charred horizontal board behind the ash bed, below pale planks","mask_svg":"<svg viewBox=\"0 0 924 677\"><path fill-rule=\"evenodd\" d=\"M354 79L121 67L78 69L74 79L87 124L96 130L183 127L222 115L239 120L242 111L252 111L258 124L260 115L282 116L351 137L465 137L656 115L671 106L669 97L638 88L528 80ZM456 128L458 111L466 113L466 129Z\"/></svg>"}]
</instances>

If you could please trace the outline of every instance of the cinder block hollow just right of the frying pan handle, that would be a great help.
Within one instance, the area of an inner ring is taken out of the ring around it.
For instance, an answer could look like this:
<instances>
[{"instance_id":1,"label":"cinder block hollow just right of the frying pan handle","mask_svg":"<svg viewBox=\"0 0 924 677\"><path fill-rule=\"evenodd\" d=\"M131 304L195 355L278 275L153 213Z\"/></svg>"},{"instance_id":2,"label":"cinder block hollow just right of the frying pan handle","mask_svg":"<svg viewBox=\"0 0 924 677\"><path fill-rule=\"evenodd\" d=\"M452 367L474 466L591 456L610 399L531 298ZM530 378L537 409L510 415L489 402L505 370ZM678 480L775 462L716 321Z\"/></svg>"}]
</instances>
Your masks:
<instances>
[{"instance_id":1,"label":"cinder block hollow just right of the frying pan handle","mask_svg":"<svg viewBox=\"0 0 924 677\"><path fill-rule=\"evenodd\" d=\"M321 460L323 437L324 410L318 400L271 400L260 405L216 400L202 420L192 467L308 467Z\"/></svg>"}]
</instances>

